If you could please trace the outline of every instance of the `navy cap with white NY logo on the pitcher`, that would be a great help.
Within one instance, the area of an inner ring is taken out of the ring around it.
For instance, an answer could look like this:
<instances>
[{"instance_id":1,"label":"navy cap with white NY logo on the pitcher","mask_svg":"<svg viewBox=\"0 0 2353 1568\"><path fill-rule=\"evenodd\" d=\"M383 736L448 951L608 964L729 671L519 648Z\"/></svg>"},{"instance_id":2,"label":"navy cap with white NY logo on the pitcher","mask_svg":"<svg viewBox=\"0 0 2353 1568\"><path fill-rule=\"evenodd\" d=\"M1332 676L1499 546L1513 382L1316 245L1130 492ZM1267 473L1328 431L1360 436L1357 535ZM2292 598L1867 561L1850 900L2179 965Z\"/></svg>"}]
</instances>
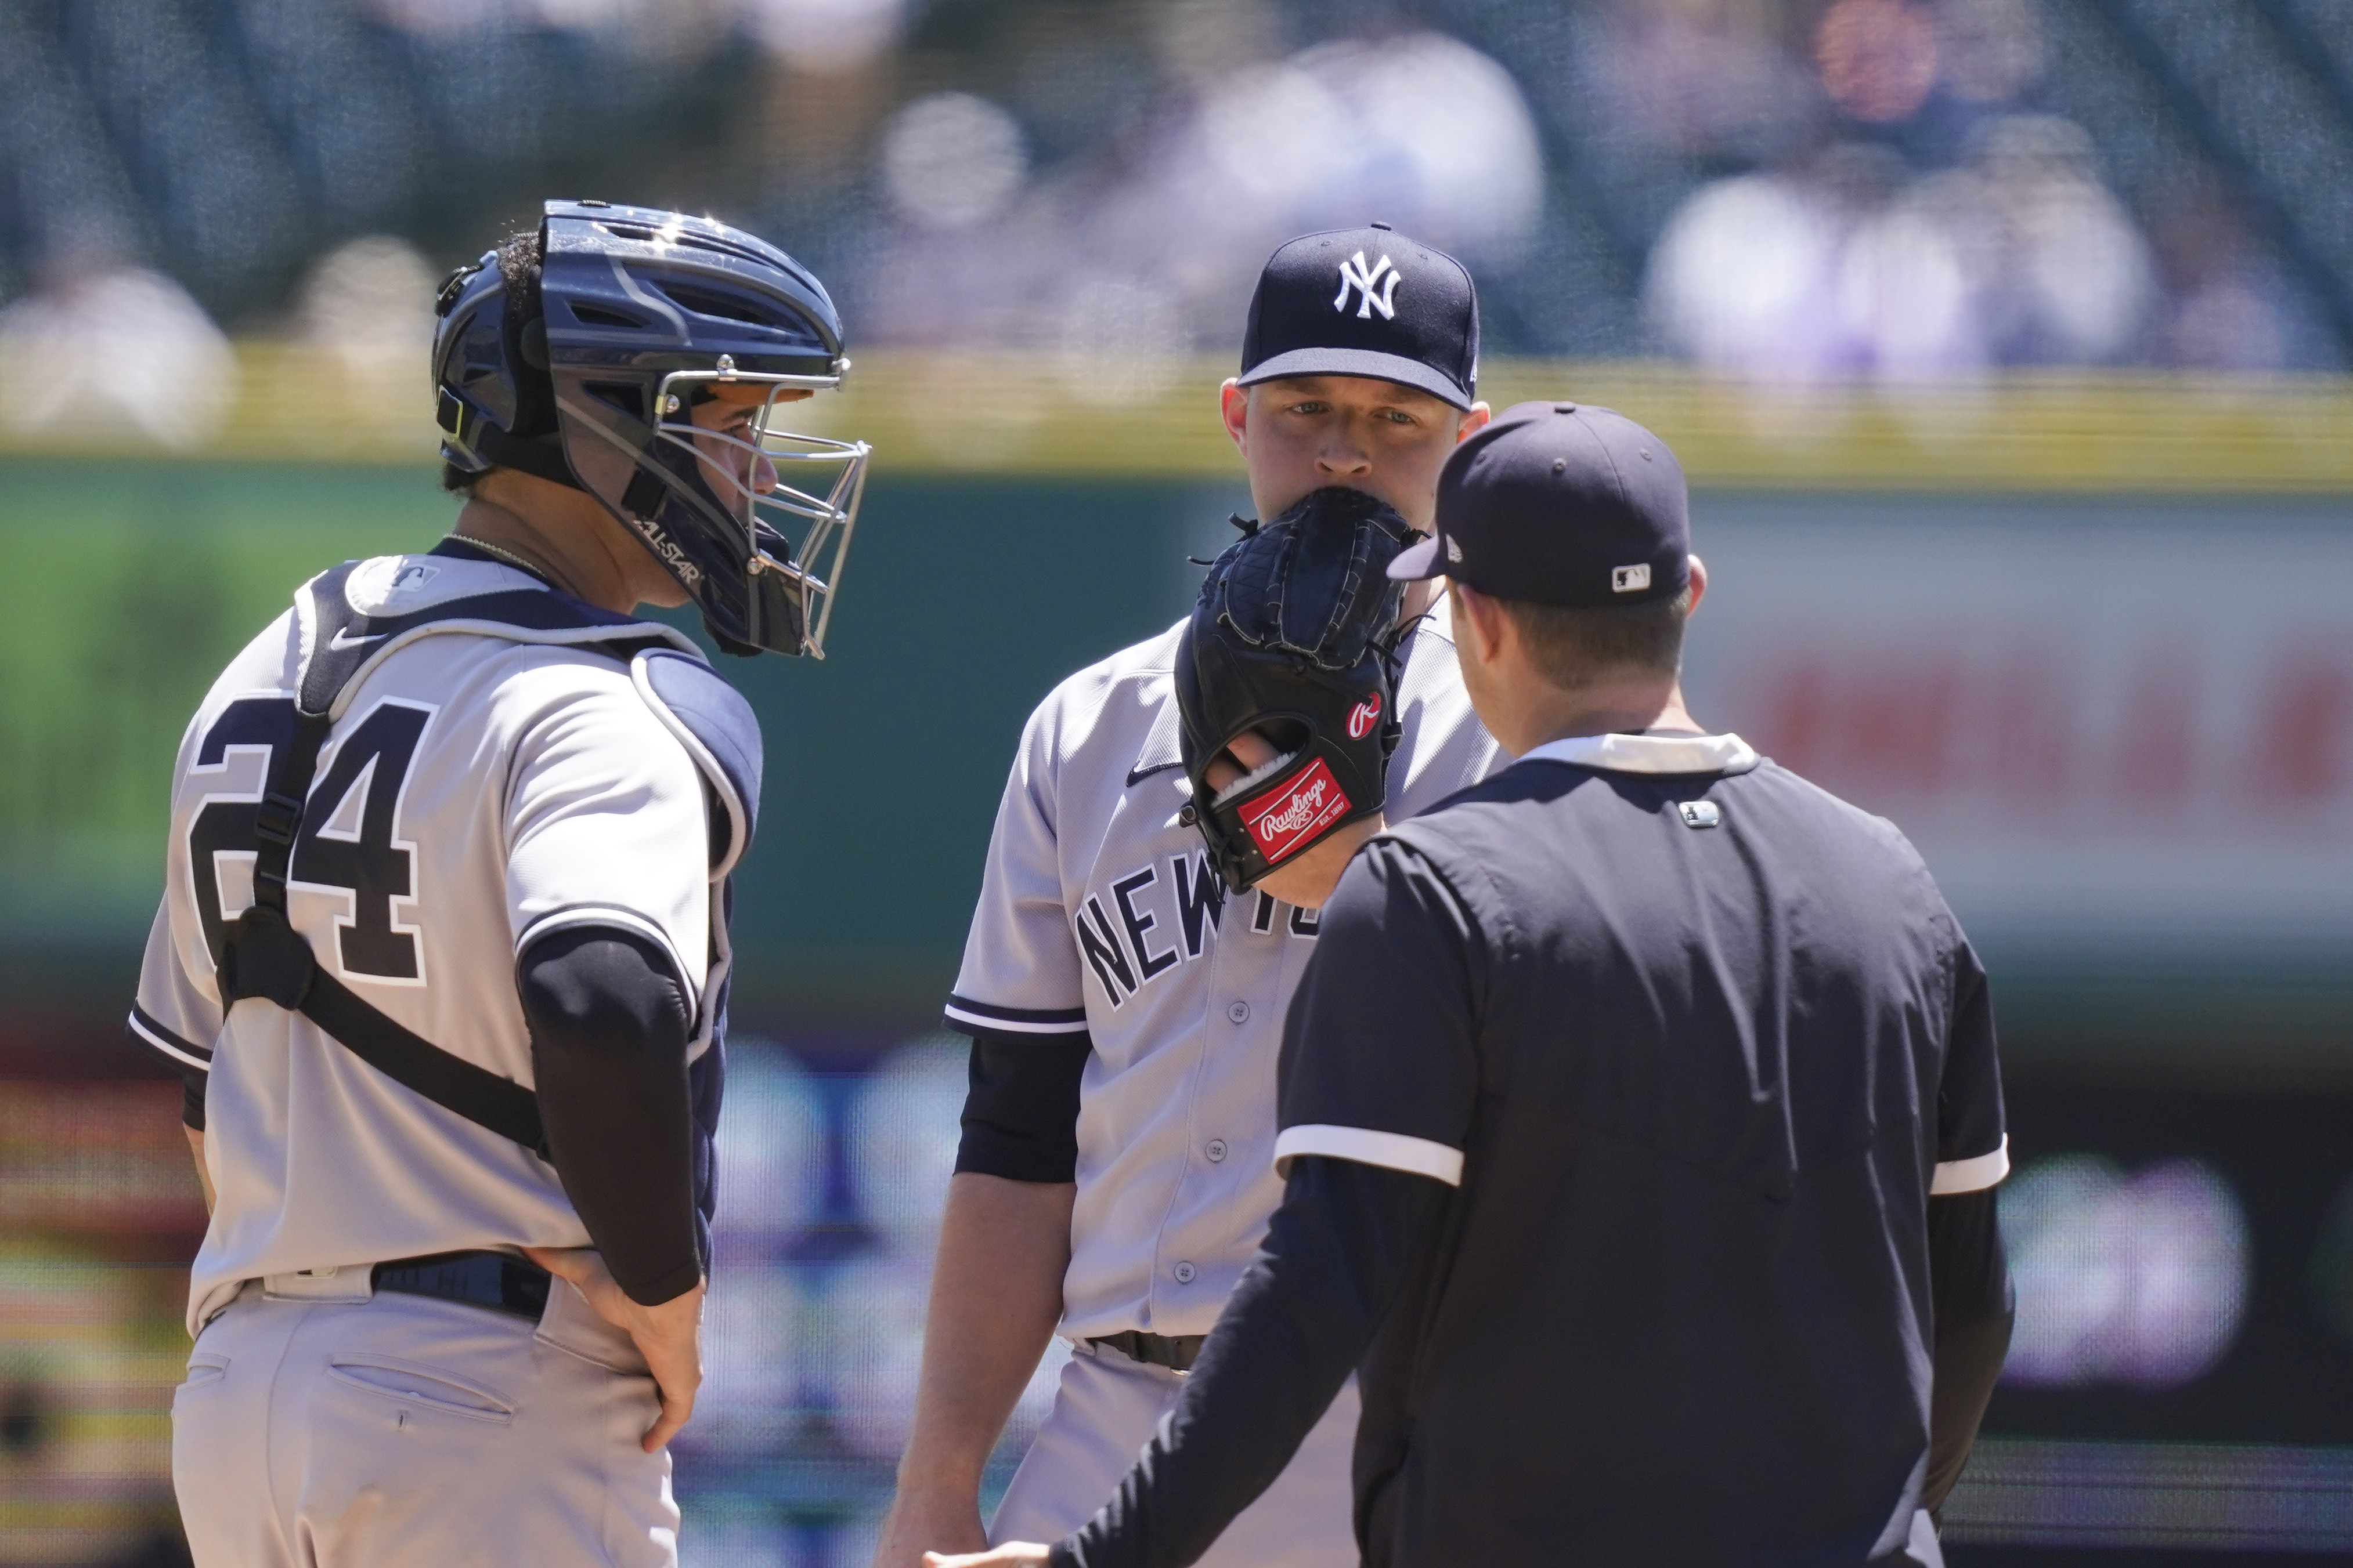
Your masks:
<instances>
[{"instance_id":1,"label":"navy cap with white NY logo on the pitcher","mask_svg":"<svg viewBox=\"0 0 2353 1568\"><path fill-rule=\"evenodd\" d=\"M1249 296L1242 386L1280 376L1377 376L1468 409L1478 397L1471 273L1388 223L1278 247Z\"/></svg>"}]
</instances>

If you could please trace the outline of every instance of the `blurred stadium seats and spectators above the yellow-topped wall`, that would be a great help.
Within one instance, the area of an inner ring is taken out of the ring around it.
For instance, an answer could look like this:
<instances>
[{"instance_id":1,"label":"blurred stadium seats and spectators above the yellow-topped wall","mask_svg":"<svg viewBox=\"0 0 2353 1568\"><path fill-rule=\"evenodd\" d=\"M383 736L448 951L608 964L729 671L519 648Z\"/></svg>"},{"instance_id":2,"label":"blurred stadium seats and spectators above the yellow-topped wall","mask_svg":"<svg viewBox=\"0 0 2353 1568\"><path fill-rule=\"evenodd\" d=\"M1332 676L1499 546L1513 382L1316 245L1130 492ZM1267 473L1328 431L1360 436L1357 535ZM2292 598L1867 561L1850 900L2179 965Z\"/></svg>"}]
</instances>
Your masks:
<instances>
[{"instance_id":1,"label":"blurred stadium seats and spectators above the yellow-topped wall","mask_svg":"<svg viewBox=\"0 0 2353 1568\"><path fill-rule=\"evenodd\" d=\"M1464 256L1489 353L1779 383L2341 369L2327 0L9 0L0 421L191 447L226 334L407 376L544 193L708 209L864 346L1104 397L1285 235ZM2346 233L2337 233L2346 228Z\"/></svg>"}]
</instances>

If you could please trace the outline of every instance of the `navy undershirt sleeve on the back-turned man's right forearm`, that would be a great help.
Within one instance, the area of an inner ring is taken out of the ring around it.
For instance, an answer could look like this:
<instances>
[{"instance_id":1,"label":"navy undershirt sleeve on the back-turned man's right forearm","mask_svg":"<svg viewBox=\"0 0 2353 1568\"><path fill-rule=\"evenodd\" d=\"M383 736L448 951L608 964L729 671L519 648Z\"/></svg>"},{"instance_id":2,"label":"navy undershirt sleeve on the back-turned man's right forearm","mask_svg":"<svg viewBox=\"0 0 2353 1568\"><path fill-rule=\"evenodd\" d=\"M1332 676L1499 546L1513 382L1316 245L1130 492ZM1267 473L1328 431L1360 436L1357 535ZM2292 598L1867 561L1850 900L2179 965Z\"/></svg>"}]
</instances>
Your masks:
<instances>
[{"instance_id":1,"label":"navy undershirt sleeve on the back-turned man's right forearm","mask_svg":"<svg viewBox=\"0 0 2353 1568\"><path fill-rule=\"evenodd\" d=\"M1995 1220L1995 1190L1927 1201L1927 1274L1937 1309L1934 1392L1929 1394L1927 1486L1922 1505L1944 1507L1960 1481L1986 1401L2009 1354L2017 1300Z\"/></svg>"}]
</instances>

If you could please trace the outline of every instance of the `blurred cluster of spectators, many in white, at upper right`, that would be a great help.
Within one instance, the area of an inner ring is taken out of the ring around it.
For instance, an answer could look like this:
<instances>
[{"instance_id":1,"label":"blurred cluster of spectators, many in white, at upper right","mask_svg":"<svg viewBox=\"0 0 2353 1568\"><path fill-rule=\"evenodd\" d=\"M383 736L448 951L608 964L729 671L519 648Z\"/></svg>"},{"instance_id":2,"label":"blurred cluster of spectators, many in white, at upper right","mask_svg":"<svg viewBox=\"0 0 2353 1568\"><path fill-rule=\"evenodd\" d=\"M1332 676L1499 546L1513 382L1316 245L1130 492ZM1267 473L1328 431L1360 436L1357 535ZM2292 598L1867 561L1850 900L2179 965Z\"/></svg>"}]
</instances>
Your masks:
<instances>
[{"instance_id":1,"label":"blurred cluster of spectators, many in white, at upper right","mask_svg":"<svg viewBox=\"0 0 2353 1568\"><path fill-rule=\"evenodd\" d=\"M2045 106L2031 0L1835 0L1805 59L1753 26L1765 9L1626 7L1595 56L1593 89L1661 143L1753 165L1659 230L1668 348L1798 381L2289 364L2292 301L2228 190L2181 169L2137 219Z\"/></svg>"}]
</instances>

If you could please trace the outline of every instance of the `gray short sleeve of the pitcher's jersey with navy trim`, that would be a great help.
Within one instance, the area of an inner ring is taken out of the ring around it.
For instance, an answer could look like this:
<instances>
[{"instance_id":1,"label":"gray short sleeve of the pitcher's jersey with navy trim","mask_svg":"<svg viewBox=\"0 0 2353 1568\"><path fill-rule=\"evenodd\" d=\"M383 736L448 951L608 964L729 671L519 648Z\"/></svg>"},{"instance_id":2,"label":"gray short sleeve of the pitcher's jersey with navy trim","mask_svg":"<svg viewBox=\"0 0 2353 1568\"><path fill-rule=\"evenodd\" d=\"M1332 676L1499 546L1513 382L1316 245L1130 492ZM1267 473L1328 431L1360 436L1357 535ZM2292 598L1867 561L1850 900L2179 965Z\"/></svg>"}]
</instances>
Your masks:
<instances>
[{"instance_id":1,"label":"gray short sleeve of the pitcher's jersey with navy trim","mask_svg":"<svg viewBox=\"0 0 2353 1568\"><path fill-rule=\"evenodd\" d=\"M1085 1034L1078 938L1064 907L1061 846L1054 835L1056 769L1054 708L1047 698L1021 729L998 825L988 835L981 900L972 910L965 964L948 997L948 1027L965 1034ZM1108 790L1125 788L1108 776Z\"/></svg>"}]
</instances>

